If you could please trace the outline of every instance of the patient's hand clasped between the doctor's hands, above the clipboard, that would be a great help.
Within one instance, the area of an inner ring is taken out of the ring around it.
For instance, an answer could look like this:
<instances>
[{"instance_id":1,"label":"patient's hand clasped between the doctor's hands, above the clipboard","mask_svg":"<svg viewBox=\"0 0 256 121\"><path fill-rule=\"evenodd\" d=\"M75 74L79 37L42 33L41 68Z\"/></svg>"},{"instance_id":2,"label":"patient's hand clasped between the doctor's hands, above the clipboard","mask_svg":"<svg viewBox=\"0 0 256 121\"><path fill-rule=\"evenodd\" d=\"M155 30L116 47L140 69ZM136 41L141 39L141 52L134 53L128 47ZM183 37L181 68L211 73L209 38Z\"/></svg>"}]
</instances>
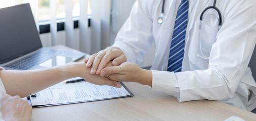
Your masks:
<instances>
[{"instance_id":1,"label":"patient's hand clasped between the doctor's hands, above the clipboard","mask_svg":"<svg viewBox=\"0 0 256 121\"><path fill-rule=\"evenodd\" d=\"M90 74L90 68L86 68L86 63L70 63L70 69L67 71L73 75L73 77L81 77L85 79L87 82L96 84L96 85L109 85L117 88L121 88L122 85L117 82L110 80L106 77L101 77L100 75L92 75ZM112 63L108 63L106 67L111 67ZM74 76L75 75L75 76Z\"/></svg>"}]
</instances>

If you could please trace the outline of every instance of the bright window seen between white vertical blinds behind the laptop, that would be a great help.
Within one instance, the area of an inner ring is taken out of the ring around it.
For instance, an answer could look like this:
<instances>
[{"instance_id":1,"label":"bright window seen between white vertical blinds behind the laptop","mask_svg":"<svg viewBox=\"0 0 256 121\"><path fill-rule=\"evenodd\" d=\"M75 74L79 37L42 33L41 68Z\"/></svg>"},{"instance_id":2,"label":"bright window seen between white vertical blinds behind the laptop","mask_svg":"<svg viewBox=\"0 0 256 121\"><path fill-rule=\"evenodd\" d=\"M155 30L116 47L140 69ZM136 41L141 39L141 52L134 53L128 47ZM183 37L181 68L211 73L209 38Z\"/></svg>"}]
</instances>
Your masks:
<instances>
[{"instance_id":1,"label":"bright window seen between white vertical blinds behind the laptop","mask_svg":"<svg viewBox=\"0 0 256 121\"><path fill-rule=\"evenodd\" d=\"M29 3L31 10L34 16L38 19L36 23L39 23L39 33L48 33L50 32L50 18L51 18L51 0L0 0L0 9L6 8L14 5ZM73 0L73 17L80 16L80 2L81 0ZM91 15L90 1L88 0L88 10L87 14ZM56 2L56 19L61 20L58 23L57 21L57 31L64 30L64 23L62 20L65 20L65 0L55 0ZM36 13L35 13L36 11ZM90 26L90 20L88 21L88 26ZM74 28L78 28L78 20L74 21Z\"/></svg>"}]
</instances>

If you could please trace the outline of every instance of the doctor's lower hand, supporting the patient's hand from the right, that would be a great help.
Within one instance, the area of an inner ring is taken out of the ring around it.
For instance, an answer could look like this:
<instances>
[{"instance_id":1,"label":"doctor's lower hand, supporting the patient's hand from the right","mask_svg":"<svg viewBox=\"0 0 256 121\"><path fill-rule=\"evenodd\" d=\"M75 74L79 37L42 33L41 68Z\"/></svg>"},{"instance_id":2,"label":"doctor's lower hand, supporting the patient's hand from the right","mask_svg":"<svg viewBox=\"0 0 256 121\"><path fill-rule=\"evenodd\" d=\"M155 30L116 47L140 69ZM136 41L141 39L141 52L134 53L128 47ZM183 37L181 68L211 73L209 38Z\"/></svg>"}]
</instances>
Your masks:
<instances>
[{"instance_id":1,"label":"doctor's lower hand, supporting the patient's hand from the right","mask_svg":"<svg viewBox=\"0 0 256 121\"><path fill-rule=\"evenodd\" d=\"M141 69L134 63L126 62L120 66L104 68L100 75L118 82L138 82L152 86L152 72Z\"/></svg>"}]
</instances>

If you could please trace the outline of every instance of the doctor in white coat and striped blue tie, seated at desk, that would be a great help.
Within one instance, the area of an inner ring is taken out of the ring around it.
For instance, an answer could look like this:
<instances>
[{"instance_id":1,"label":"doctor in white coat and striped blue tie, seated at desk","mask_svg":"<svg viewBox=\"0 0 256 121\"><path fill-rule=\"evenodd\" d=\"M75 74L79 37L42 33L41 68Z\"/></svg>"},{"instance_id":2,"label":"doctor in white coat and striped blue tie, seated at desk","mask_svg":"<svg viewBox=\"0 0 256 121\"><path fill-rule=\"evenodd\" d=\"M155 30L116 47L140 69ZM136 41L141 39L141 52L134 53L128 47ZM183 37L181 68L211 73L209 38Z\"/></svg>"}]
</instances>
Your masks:
<instances>
[{"instance_id":1,"label":"doctor in white coat and striped blue tie, seated at desk","mask_svg":"<svg viewBox=\"0 0 256 121\"><path fill-rule=\"evenodd\" d=\"M255 42L254 0L138 0L114 44L85 62L91 74L149 85L180 102L219 100L251 111L256 84L248 63ZM154 63L143 70L134 63L152 45ZM115 67L103 69L109 61Z\"/></svg>"}]
</instances>

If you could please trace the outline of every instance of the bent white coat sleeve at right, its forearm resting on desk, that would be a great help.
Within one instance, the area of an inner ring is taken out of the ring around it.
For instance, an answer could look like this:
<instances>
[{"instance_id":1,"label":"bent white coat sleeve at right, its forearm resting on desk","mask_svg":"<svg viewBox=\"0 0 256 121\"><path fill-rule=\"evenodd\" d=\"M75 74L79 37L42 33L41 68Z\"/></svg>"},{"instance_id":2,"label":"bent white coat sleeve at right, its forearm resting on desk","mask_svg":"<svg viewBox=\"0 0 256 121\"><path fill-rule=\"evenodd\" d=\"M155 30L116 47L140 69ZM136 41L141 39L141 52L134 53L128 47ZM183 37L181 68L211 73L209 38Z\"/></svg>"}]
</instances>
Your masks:
<instances>
[{"instance_id":1,"label":"bent white coat sleeve at right, its forearm resting on desk","mask_svg":"<svg viewBox=\"0 0 256 121\"><path fill-rule=\"evenodd\" d=\"M175 73L180 101L233 97L248 68L256 40L256 2L240 1L225 13L207 70ZM253 79L252 79L253 80Z\"/></svg>"}]
</instances>

